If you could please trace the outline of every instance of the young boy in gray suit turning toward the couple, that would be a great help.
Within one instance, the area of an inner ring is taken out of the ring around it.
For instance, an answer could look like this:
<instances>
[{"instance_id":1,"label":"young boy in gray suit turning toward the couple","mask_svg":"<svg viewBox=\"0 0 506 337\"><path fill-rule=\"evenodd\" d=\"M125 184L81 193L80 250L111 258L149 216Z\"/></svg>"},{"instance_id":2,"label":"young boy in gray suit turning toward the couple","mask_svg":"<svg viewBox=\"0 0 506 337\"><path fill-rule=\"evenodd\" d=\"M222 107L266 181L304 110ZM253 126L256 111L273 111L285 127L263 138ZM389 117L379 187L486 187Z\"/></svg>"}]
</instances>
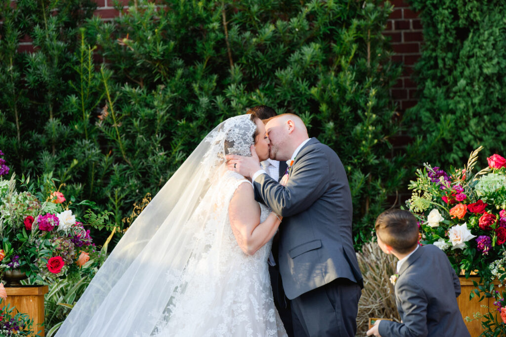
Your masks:
<instances>
[{"instance_id":1,"label":"young boy in gray suit turning toward the couple","mask_svg":"<svg viewBox=\"0 0 506 337\"><path fill-rule=\"evenodd\" d=\"M377 217L374 228L381 250L399 259L394 287L402 320L376 321L367 335L470 337L458 310L458 277L443 251L418 245L415 217L388 210Z\"/></svg>"}]
</instances>

